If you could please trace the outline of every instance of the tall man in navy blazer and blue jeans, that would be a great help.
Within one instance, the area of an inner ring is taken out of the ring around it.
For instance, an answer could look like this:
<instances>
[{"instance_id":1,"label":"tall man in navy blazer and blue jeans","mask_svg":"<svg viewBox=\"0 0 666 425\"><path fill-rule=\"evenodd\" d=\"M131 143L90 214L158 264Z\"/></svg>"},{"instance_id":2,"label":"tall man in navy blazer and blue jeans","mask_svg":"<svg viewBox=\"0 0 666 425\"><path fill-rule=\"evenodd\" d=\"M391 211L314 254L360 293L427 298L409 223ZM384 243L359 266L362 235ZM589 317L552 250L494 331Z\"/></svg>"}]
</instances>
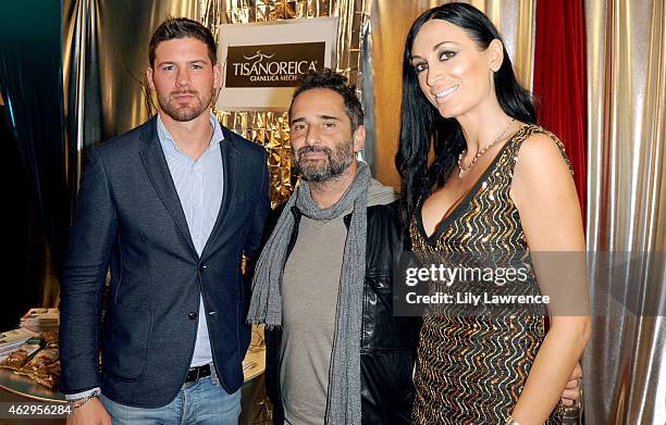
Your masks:
<instances>
[{"instance_id":1,"label":"tall man in navy blazer and blue jeans","mask_svg":"<svg viewBox=\"0 0 666 425\"><path fill-rule=\"evenodd\" d=\"M67 423L236 424L240 262L270 210L266 151L210 113L221 66L207 28L166 20L149 63L158 116L91 148L78 192L60 304Z\"/></svg>"}]
</instances>

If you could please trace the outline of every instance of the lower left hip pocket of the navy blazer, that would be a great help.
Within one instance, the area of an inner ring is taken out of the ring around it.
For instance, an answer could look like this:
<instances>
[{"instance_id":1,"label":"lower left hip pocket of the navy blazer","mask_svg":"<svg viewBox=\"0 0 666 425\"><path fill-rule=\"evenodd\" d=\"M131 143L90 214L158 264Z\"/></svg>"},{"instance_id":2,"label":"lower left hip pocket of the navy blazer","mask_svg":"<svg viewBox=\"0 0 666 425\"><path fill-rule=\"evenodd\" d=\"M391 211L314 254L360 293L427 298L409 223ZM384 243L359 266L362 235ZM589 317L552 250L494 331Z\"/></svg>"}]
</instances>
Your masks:
<instances>
[{"instance_id":1,"label":"lower left hip pocket of the navy blazer","mask_svg":"<svg viewBox=\"0 0 666 425\"><path fill-rule=\"evenodd\" d=\"M122 304L111 307L104 317L102 370L121 380L136 380L146 371L152 312Z\"/></svg>"}]
</instances>

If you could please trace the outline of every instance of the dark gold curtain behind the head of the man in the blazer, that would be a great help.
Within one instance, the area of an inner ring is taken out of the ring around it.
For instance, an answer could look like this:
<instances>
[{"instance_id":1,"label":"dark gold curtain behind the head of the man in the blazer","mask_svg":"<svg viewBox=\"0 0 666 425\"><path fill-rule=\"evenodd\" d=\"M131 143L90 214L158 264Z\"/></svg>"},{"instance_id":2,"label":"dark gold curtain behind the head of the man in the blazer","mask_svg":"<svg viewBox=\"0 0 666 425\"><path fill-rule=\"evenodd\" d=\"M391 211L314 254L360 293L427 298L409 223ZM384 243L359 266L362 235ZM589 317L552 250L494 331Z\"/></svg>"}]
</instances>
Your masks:
<instances>
[{"instance_id":1,"label":"dark gold curtain behind the head of the man in the blazer","mask_svg":"<svg viewBox=\"0 0 666 425\"><path fill-rule=\"evenodd\" d=\"M197 20L196 0L126 2L63 0L65 134L76 148L67 165L76 191L87 146L149 118L144 97L148 43L168 16Z\"/></svg>"}]
</instances>

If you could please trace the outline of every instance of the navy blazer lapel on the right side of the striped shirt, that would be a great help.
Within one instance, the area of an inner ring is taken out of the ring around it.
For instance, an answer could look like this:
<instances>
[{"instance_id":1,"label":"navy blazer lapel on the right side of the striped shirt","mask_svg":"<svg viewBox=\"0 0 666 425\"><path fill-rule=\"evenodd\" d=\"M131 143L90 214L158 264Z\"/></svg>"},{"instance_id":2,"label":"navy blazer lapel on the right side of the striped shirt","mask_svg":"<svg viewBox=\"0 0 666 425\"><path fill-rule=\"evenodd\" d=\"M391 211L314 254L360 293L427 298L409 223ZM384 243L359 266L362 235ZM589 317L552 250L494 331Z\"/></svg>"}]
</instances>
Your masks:
<instances>
[{"instance_id":1,"label":"navy blazer lapel on the right side of the striped shirt","mask_svg":"<svg viewBox=\"0 0 666 425\"><path fill-rule=\"evenodd\" d=\"M224 140L220 142L220 153L222 154L222 203L220 204L220 212L218 213L218 220L213 226L208 241L201 251L201 257L210 250L211 242L217 239L217 235L221 232L224 226L224 222L229 216L229 212L232 207L232 202L236 196L236 184L238 182L238 150L234 146L232 135L230 132L222 127L224 134Z\"/></svg>"}]
</instances>

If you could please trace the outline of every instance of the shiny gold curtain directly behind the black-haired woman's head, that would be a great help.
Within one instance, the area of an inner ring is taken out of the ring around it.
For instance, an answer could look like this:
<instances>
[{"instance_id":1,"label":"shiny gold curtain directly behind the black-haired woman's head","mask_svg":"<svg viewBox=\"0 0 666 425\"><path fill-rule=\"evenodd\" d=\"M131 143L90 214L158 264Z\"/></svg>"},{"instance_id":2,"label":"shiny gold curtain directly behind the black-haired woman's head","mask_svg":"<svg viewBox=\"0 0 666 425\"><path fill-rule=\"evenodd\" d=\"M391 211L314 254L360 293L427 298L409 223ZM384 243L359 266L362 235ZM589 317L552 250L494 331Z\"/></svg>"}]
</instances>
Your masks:
<instances>
[{"instance_id":1,"label":"shiny gold curtain directly behind the black-haired woman's head","mask_svg":"<svg viewBox=\"0 0 666 425\"><path fill-rule=\"evenodd\" d=\"M375 177L399 188L394 157L397 151L403 84L403 51L411 23L425 10L448 1L373 0L372 68L374 73L374 120L377 132ZM504 36L507 50L522 85L532 87L534 58L534 0L471 0L485 12ZM368 105L366 104L366 108Z\"/></svg>"}]
</instances>

